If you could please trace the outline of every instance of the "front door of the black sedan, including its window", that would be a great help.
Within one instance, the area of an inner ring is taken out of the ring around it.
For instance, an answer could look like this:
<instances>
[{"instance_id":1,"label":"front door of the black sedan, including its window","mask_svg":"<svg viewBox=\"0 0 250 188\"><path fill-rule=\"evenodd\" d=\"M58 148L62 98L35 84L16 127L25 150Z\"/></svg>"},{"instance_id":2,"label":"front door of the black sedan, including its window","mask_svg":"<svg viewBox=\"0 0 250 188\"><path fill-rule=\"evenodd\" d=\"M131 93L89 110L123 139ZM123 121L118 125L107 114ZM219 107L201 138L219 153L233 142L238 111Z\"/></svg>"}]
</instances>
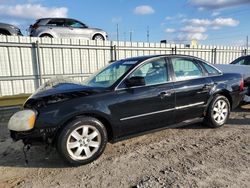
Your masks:
<instances>
[{"instance_id":1,"label":"front door of the black sedan, including its window","mask_svg":"<svg viewBox=\"0 0 250 188\"><path fill-rule=\"evenodd\" d=\"M118 102L113 106L120 121L121 137L137 134L173 123L175 96L173 83L164 58L145 62L128 78L144 77L145 85L128 88L118 87Z\"/></svg>"}]
</instances>

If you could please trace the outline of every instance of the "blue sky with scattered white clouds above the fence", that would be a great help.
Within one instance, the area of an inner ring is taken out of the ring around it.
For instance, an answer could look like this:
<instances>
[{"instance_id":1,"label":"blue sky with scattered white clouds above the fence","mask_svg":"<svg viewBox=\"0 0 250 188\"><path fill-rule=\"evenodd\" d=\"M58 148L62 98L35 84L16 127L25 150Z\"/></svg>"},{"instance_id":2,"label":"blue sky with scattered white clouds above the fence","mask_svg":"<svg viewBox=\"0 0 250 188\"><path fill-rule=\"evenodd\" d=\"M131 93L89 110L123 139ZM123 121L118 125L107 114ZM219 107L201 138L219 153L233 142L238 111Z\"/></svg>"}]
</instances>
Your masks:
<instances>
[{"instance_id":1,"label":"blue sky with scattered white clouds above the fence","mask_svg":"<svg viewBox=\"0 0 250 188\"><path fill-rule=\"evenodd\" d=\"M250 38L250 0L0 0L0 22L25 35L42 17L78 19L110 40L117 26L121 41L246 46Z\"/></svg>"}]
</instances>

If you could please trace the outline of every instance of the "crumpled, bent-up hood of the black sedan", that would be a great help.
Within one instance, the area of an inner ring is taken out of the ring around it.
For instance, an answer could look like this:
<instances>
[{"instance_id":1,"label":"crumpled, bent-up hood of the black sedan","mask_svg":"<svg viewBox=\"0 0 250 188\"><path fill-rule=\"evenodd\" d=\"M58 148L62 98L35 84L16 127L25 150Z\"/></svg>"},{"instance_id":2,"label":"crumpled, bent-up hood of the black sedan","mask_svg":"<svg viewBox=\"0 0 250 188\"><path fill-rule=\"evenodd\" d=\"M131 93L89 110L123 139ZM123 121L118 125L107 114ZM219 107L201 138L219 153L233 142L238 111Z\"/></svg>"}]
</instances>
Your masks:
<instances>
[{"instance_id":1,"label":"crumpled, bent-up hood of the black sedan","mask_svg":"<svg viewBox=\"0 0 250 188\"><path fill-rule=\"evenodd\" d=\"M90 95L104 91L104 88L90 87L83 85L80 82L68 78L54 78L44 83L39 87L30 98L38 99L48 96L60 94L74 94L81 93L82 95Z\"/></svg>"}]
</instances>

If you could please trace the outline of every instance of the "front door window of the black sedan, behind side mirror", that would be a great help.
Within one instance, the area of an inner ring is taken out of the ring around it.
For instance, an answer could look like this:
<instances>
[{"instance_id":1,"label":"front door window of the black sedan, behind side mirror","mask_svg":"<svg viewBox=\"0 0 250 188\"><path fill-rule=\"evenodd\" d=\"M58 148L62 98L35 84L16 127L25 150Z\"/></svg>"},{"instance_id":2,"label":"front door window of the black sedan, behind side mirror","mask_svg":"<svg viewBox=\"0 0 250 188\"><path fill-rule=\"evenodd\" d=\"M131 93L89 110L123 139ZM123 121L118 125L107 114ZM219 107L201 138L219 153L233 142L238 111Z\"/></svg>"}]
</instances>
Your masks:
<instances>
[{"instance_id":1,"label":"front door window of the black sedan, behind side mirror","mask_svg":"<svg viewBox=\"0 0 250 188\"><path fill-rule=\"evenodd\" d=\"M136 69L128 78L140 76L145 80L145 85L161 84L169 80L165 59L147 62Z\"/></svg>"}]
</instances>

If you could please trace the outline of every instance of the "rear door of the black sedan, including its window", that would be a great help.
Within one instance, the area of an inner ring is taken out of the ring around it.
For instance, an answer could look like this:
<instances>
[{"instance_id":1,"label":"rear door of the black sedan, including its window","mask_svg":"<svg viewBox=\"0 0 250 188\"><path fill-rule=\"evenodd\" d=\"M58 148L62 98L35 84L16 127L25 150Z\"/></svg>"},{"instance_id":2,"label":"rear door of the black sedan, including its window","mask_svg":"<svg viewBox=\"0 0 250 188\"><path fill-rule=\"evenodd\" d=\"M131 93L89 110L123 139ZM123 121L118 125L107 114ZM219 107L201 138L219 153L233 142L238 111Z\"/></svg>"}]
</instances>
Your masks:
<instances>
[{"instance_id":1,"label":"rear door of the black sedan, including its window","mask_svg":"<svg viewBox=\"0 0 250 188\"><path fill-rule=\"evenodd\" d=\"M179 123L202 117L213 82L192 58L170 58L176 96L176 118Z\"/></svg>"}]
</instances>

